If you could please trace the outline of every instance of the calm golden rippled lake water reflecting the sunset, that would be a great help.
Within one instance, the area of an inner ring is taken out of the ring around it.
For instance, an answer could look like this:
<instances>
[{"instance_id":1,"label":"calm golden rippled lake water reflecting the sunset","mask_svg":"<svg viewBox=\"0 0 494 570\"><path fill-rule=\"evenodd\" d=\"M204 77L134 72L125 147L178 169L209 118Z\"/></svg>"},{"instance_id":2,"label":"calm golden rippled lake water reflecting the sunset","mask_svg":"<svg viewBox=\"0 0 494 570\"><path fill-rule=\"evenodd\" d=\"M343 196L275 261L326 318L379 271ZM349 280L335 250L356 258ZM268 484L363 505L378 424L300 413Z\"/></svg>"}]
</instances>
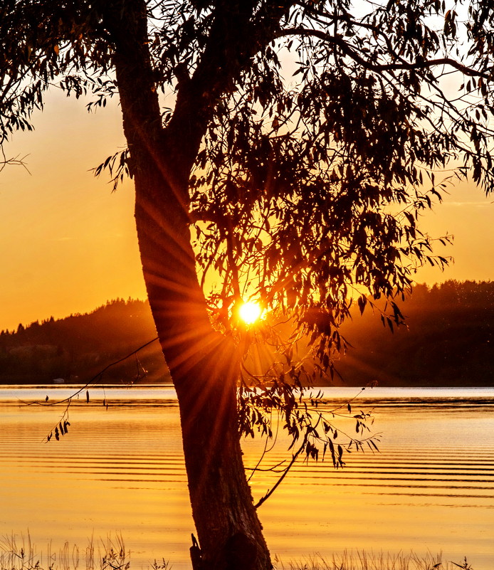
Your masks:
<instances>
[{"instance_id":1,"label":"calm golden rippled lake water reflecting the sunset","mask_svg":"<svg viewBox=\"0 0 494 570\"><path fill-rule=\"evenodd\" d=\"M43 443L64 406L19 399L70 393L0 389L0 537L29 530L40 549L49 541L84 549L91 536L122 532L132 567L164 557L174 570L189 569L193 526L174 391L92 389L89 404L84 392L70 406L68 435ZM336 400L354 394L327 391ZM494 389L376 388L363 396L354 408L374 410L381 453L347 455L338 471L328 462L295 465L259 510L273 555L413 549L493 569ZM256 465L262 445L247 442L246 465ZM263 465L287 458L285 449L277 445ZM254 497L274 481L256 473Z\"/></svg>"}]
</instances>

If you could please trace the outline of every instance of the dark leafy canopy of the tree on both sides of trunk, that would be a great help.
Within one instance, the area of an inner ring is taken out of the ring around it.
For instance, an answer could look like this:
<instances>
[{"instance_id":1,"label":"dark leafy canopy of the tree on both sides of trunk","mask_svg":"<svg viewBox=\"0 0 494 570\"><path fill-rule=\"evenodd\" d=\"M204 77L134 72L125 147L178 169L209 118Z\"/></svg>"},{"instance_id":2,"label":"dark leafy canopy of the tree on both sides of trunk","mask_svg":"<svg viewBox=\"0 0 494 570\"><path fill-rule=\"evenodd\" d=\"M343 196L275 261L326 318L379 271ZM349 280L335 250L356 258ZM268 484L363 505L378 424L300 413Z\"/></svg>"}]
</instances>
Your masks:
<instances>
[{"instance_id":1,"label":"dark leafy canopy of the tree on both sides of trunk","mask_svg":"<svg viewBox=\"0 0 494 570\"><path fill-rule=\"evenodd\" d=\"M117 93L119 4L4 4L4 139L53 85L90 109ZM184 201L221 327L253 296L294 310L322 357L350 296L392 297L417 263L445 263L416 221L451 169L492 189L492 23L490 2L147 2L153 88L206 99ZM131 154L97 171L132 176Z\"/></svg>"}]
</instances>

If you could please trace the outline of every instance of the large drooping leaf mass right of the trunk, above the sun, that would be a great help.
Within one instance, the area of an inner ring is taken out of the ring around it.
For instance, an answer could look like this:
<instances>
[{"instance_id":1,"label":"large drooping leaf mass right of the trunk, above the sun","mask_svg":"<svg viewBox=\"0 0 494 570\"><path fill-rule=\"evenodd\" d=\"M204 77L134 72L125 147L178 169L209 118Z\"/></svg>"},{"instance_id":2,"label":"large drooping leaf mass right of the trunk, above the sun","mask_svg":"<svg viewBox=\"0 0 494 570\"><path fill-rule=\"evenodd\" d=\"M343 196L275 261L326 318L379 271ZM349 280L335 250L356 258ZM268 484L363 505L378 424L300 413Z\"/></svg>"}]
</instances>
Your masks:
<instances>
[{"instance_id":1,"label":"large drooping leaf mass right of the trunk, above the sun","mask_svg":"<svg viewBox=\"0 0 494 570\"><path fill-rule=\"evenodd\" d=\"M293 5L218 102L191 179L222 322L256 297L295 314L323 359L351 297L388 297L401 321L392 297L447 263L417 221L448 169L493 187L492 19L475 3Z\"/></svg>"}]
</instances>

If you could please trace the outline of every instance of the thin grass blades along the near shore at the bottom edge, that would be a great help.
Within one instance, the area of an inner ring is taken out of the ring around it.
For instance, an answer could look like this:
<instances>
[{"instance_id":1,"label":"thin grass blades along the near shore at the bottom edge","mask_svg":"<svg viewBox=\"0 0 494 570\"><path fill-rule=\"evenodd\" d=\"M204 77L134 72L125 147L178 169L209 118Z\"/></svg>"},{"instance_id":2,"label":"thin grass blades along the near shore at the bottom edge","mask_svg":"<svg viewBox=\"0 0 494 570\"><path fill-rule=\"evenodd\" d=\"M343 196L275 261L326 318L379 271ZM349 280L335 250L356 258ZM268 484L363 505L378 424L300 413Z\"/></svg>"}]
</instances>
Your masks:
<instances>
[{"instance_id":1,"label":"thin grass blades along the near shore at the bottom edge","mask_svg":"<svg viewBox=\"0 0 494 570\"><path fill-rule=\"evenodd\" d=\"M410 554L374 553L365 551L345 551L341 556L325 559L322 556L310 556L288 566L275 559L277 570L473 570L464 559L456 563L442 561L441 554L431 554L420 558ZM105 541L94 544L93 538L88 546L80 549L68 542L54 550L51 542L46 551L38 551L31 541L29 533L20 537L11 534L0 538L0 570L129 570L130 556L125 550L121 534L108 536ZM149 564L150 570L172 570L168 562Z\"/></svg>"}]
</instances>

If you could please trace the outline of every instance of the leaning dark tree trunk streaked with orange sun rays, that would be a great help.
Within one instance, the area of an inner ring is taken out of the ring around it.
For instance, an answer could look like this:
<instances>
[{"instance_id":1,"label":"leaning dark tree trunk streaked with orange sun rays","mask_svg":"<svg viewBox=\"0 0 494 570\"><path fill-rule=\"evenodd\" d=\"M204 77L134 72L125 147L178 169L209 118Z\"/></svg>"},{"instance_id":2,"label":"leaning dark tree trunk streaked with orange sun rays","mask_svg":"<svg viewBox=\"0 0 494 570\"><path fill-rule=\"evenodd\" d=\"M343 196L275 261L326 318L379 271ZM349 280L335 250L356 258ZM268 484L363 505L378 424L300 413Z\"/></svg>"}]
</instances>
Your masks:
<instances>
[{"instance_id":1,"label":"leaning dark tree trunk streaked with orange sun rays","mask_svg":"<svg viewBox=\"0 0 494 570\"><path fill-rule=\"evenodd\" d=\"M118 4L105 6L135 179L144 280L179 401L199 539L191 548L194 570L268 570L269 551L238 434L238 358L211 327L191 246L188 181L206 128L199 108L204 86L179 93L174 119L164 130L149 64L146 4L134 0L125 11Z\"/></svg>"}]
</instances>

